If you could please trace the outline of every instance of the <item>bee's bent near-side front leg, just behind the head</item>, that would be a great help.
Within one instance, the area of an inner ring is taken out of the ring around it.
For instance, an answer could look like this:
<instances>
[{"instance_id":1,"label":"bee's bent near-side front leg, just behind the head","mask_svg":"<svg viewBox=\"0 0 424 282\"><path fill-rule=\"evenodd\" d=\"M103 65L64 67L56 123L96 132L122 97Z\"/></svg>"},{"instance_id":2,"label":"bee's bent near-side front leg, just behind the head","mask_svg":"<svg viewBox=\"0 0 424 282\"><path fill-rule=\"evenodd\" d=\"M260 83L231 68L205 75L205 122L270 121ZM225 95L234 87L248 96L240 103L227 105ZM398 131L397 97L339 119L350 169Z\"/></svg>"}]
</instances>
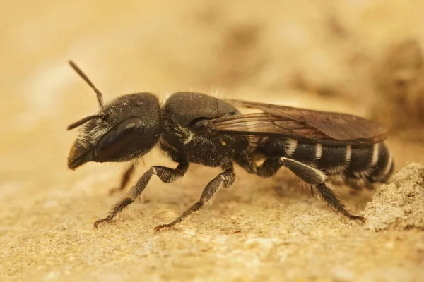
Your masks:
<instances>
[{"instance_id":1,"label":"bee's bent near-side front leg, just behind the head","mask_svg":"<svg viewBox=\"0 0 424 282\"><path fill-rule=\"evenodd\" d=\"M141 176L136 185L134 185L133 188L129 190L128 195L124 197L124 199L114 204L112 209L110 209L110 212L107 217L95 221L93 225L95 226L95 228L97 228L99 223L111 221L114 216L116 216L117 214L119 214L119 212L122 211L122 209L134 202L134 200L136 200L136 198L141 195L141 192L143 192L144 188L146 188L146 185L151 180L153 174L157 175L164 183L171 183L172 181L175 181L178 178L184 176L188 168L188 162L179 163L177 168L175 169L167 168L165 166L152 166L148 171L143 174L143 176Z\"/></svg>"}]
</instances>

